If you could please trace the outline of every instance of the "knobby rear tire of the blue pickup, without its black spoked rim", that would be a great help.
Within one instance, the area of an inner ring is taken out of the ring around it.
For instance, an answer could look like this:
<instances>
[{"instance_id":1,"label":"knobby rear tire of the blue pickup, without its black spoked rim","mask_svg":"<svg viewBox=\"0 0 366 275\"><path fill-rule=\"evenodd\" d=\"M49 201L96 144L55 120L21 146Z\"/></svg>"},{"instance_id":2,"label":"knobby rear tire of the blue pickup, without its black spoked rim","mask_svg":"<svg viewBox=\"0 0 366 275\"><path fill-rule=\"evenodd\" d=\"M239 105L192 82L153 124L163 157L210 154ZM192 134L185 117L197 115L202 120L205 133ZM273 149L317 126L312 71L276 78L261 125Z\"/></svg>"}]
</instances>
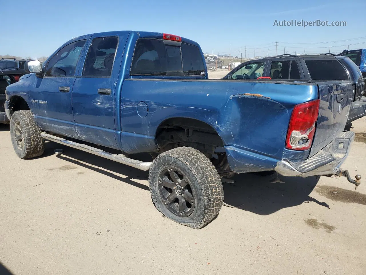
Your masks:
<instances>
[{"instance_id":1,"label":"knobby rear tire of the blue pickup, without its black spoked rim","mask_svg":"<svg viewBox=\"0 0 366 275\"><path fill-rule=\"evenodd\" d=\"M204 204L203 213L199 212L199 217L195 219L194 223L184 225L195 229L204 227L219 214L224 201L223 185L215 166L204 154L191 147L178 147L158 155L149 171L149 187L152 201L161 213L163 213L161 211L162 206L158 203L155 197L156 195L152 192L152 179L156 163L163 157L175 158L182 162L190 169L199 183L198 199Z\"/></svg>"}]
</instances>

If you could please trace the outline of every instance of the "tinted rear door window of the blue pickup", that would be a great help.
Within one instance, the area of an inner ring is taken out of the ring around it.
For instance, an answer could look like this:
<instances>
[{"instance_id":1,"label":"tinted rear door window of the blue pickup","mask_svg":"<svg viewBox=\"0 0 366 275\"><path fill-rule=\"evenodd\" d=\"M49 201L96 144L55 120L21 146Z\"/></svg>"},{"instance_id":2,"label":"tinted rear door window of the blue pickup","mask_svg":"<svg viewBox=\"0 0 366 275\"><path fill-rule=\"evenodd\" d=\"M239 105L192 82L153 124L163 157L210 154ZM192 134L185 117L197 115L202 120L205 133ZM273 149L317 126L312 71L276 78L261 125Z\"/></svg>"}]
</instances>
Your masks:
<instances>
[{"instance_id":1,"label":"tinted rear door window of the blue pickup","mask_svg":"<svg viewBox=\"0 0 366 275\"><path fill-rule=\"evenodd\" d=\"M85 58L82 76L110 77L117 44L115 36L94 38Z\"/></svg>"}]
</instances>

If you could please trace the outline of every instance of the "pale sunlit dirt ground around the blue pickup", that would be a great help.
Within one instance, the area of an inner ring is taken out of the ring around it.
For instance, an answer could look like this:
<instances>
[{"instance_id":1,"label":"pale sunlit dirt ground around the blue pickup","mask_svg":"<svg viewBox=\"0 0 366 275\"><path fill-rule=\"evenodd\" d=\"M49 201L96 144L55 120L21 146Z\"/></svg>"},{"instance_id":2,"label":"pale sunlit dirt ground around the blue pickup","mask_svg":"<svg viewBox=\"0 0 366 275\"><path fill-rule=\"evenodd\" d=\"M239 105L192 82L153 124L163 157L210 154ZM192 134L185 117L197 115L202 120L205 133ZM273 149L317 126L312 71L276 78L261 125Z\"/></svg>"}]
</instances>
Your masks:
<instances>
[{"instance_id":1,"label":"pale sunlit dirt ground around the blue pickup","mask_svg":"<svg viewBox=\"0 0 366 275\"><path fill-rule=\"evenodd\" d=\"M366 143L354 142L343 165L364 177L357 191L345 178L241 174L224 184L239 208L194 230L154 208L147 172L51 142L22 160L8 130L0 126L0 261L12 274L366 274ZM366 118L352 130L365 133Z\"/></svg>"}]
</instances>

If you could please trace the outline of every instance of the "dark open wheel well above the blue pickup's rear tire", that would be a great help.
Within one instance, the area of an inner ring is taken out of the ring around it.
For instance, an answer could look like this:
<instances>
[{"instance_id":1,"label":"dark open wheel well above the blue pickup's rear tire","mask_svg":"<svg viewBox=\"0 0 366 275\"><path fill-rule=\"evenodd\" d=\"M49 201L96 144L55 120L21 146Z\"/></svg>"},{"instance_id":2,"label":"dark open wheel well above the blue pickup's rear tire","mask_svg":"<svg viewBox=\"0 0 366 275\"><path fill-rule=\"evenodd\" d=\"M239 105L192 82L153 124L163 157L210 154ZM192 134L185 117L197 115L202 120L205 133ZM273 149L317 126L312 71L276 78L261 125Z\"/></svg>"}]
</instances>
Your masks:
<instances>
[{"instance_id":1,"label":"dark open wheel well above the blue pickup's rear tire","mask_svg":"<svg viewBox=\"0 0 366 275\"><path fill-rule=\"evenodd\" d=\"M230 172L224 142L205 122L193 118L169 118L157 128L156 140L159 146L157 154L176 147L192 147L205 154L220 174Z\"/></svg>"}]
</instances>

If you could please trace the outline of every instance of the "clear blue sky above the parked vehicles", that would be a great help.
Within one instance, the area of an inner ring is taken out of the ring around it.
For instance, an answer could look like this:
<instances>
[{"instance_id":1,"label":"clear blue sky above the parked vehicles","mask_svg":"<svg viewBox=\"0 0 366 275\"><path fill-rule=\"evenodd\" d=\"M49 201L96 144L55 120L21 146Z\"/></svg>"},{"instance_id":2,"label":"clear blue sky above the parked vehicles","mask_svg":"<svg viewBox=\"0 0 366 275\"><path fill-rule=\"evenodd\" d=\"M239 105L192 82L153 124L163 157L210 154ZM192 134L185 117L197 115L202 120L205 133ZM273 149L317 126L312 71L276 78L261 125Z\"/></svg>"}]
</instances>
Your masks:
<instances>
[{"instance_id":1,"label":"clear blue sky above the parked vehicles","mask_svg":"<svg viewBox=\"0 0 366 275\"><path fill-rule=\"evenodd\" d=\"M0 0L0 55L49 56L82 34L111 30L166 32L197 41L204 52L246 56L366 48L365 0L349 1L14 1ZM12 11L14 10L14 11ZM346 27L280 27L277 21L347 21ZM314 44L325 41L351 41ZM292 44L307 43L307 44ZM356 44L359 43L359 44ZM356 44L356 45L352 45Z\"/></svg>"}]
</instances>

